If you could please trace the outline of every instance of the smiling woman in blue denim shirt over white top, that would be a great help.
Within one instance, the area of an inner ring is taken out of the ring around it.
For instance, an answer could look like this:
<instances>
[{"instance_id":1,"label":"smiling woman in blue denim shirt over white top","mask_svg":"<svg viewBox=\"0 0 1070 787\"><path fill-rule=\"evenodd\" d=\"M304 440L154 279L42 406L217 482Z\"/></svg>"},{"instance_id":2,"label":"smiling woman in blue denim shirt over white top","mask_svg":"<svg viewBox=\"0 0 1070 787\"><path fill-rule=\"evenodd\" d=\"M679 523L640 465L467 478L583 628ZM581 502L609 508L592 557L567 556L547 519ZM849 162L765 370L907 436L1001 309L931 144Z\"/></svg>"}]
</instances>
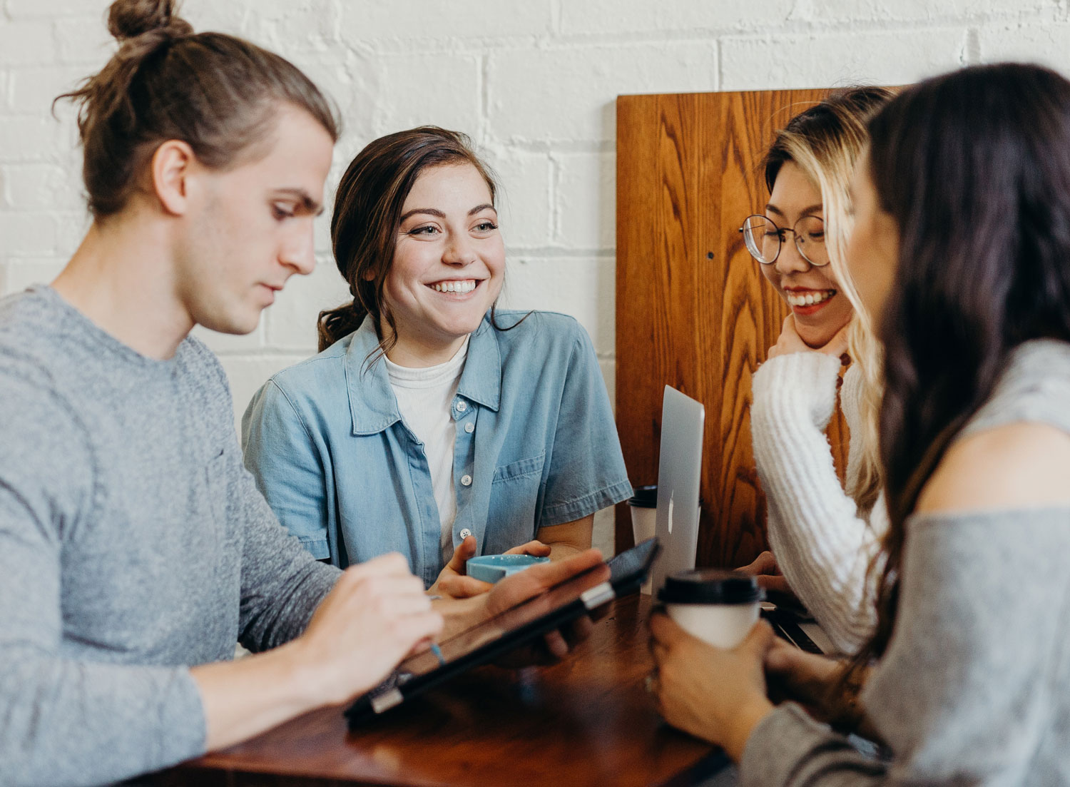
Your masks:
<instances>
[{"instance_id":1,"label":"smiling woman in blue denim shirt over white top","mask_svg":"<svg viewBox=\"0 0 1070 787\"><path fill-rule=\"evenodd\" d=\"M246 465L319 559L399 551L467 595L487 587L469 557L574 554L631 495L586 332L494 308L494 192L467 138L433 126L374 140L341 180L332 239L354 300L243 420Z\"/></svg>"}]
</instances>

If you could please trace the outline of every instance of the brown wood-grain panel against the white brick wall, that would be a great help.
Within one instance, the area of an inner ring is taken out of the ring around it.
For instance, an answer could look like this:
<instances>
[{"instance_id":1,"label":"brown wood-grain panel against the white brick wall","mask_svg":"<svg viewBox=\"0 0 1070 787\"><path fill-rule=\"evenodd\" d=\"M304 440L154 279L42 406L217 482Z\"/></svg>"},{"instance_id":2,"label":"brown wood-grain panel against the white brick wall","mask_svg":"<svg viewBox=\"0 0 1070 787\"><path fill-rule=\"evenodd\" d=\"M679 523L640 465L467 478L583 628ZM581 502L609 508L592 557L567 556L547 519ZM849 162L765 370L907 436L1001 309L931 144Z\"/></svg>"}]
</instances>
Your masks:
<instances>
[{"instance_id":1,"label":"brown wood-grain panel against the white brick wall","mask_svg":"<svg viewBox=\"0 0 1070 787\"><path fill-rule=\"evenodd\" d=\"M766 548L750 376L788 306L737 230L768 198L759 166L774 132L823 93L617 99L617 428L632 483L655 483L662 389L705 405L699 565L739 565ZM829 438L842 468L841 419ZM621 505L617 550L631 542L630 514Z\"/></svg>"}]
</instances>

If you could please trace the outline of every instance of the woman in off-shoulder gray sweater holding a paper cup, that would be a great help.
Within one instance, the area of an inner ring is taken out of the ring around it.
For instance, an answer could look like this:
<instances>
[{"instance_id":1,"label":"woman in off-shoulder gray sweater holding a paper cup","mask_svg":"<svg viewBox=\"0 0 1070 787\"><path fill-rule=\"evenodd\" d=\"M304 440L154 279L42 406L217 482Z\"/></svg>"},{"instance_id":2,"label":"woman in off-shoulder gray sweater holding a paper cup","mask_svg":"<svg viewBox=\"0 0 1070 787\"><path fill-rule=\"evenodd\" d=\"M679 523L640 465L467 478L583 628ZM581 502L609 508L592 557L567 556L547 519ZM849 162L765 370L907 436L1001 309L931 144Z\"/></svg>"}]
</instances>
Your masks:
<instances>
[{"instance_id":1,"label":"woman in off-shoulder gray sweater holding a paper cup","mask_svg":"<svg viewBox=\"0 0 1070 787\"><path fill-rule=\"evenodd\" d=\"M847 259L885 349L876 632L844 675L767 626L718 651L656 616L661 708L744 784L1067 784L1070 82L967 69L869 127ZM890 761L774 708L766 672L817 706L865 684Z\"/></svg>"}]
</instances>

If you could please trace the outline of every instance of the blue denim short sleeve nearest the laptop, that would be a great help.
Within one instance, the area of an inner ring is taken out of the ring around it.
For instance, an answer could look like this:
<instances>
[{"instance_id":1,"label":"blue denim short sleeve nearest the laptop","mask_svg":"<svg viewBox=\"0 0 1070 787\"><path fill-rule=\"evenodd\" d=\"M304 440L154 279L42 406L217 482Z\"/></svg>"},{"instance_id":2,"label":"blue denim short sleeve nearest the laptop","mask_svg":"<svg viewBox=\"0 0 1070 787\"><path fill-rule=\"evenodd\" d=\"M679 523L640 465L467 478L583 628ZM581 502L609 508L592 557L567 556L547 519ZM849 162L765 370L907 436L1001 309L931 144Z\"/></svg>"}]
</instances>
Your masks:
<instances>
[{"instance_id":1,"label":"blue denim short sleeve nearest the laptop","mask_svg":"<svg viewBox=\"0 0 1070 787\"><path fill-rule=\"evenodd\" d=\"M575 321L536 529L582 519L631 497L613 411L587 332Z\"/></svg>"}]
</instances>

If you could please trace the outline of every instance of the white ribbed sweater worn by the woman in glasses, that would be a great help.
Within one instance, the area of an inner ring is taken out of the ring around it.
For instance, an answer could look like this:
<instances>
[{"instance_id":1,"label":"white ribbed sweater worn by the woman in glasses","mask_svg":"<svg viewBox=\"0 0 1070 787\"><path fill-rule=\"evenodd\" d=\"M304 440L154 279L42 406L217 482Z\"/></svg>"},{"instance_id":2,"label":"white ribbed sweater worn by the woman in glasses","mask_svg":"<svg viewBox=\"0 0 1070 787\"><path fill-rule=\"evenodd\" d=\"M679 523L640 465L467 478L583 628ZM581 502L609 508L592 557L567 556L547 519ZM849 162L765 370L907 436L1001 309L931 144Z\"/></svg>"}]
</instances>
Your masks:
<instances>
[{"instance_id":1,"label":"white ribbed sweater worn by the woman in glasses","mask_svg":"<svg viewBox=\"0 0 1070 787\"><path fill-rule=\"evenodd\" d=\"M876 622L867 569L888 527L884 493L869 520L836 474L825 428L836 408L840 360L820 352L778 355L753 377L754 460L768 500L769 545L799 600L832 644L855 652ZM847 479L858 473L861 377L843 377L840 405L851 430Z\"/></svg>"}]
</instances>

